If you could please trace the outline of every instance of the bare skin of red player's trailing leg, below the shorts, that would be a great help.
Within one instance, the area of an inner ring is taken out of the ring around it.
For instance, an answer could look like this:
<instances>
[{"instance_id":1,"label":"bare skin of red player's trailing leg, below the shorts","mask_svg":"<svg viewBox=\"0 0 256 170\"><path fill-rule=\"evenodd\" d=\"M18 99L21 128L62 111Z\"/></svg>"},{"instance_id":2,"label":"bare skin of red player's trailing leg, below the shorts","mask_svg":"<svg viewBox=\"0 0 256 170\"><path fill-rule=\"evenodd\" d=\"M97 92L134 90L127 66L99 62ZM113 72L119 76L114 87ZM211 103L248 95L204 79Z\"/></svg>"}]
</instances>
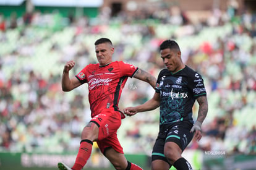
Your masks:
<instances>
[{"instance_id":1,"label":"bare skin of red player's trailing leg, below the shorts","mask_svg":"<svg viewBox=\"0 0 256 170\"><path fill-rule=\"evenodd\" d=\"M123 153L119 153L113 148L108 148L105 151L106 158L109 159L111 164L113 164L116 169L126 169L127 168L127 159Z\"/></svg>"}]
</instances>

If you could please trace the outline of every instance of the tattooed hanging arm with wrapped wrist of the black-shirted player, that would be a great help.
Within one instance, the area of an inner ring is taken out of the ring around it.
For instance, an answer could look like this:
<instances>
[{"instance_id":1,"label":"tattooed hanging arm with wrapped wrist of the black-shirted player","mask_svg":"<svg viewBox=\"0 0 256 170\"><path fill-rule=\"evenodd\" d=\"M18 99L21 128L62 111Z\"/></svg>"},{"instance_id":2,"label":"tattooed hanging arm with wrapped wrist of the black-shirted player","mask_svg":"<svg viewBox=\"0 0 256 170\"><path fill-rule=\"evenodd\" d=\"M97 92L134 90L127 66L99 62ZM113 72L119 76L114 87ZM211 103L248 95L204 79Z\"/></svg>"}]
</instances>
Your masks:
<instances>
[{"instance_id":1,"label":"tattooed hanging arm with wrapped wrist of the black-shirted player","mask_svg":"<svg viewBox=\"0 0 256 170\"><path fill-rule=\"evenodd\" d=\"M200 140L202 138L201 125L202 125L203 121L205 120L205 117L207 116L207 112L208 112L207 96L199 96L197 98L197 102L199 104L197 121L195 121L195 124L193 125L190 132L195 131L194 137L197 140Z\"/></svg>"}]
</instances>

